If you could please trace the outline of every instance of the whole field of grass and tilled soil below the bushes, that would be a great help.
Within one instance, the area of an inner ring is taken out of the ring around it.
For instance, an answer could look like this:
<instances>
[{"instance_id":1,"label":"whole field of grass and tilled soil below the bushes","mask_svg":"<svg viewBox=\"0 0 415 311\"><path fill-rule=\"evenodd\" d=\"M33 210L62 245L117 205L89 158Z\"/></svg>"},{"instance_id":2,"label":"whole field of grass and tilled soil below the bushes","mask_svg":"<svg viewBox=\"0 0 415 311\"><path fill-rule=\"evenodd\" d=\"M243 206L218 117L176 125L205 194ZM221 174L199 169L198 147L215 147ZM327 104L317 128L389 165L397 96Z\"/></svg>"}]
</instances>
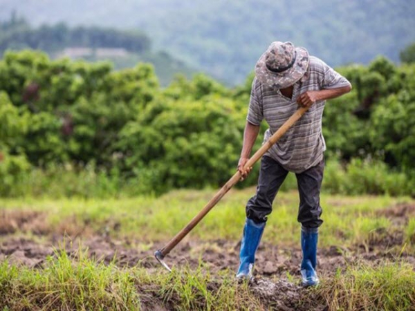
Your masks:
<instances>
[{"instance_id":1,"label":"whole field of grass and tilled soil below the bushes","mask_svg":"<svg viewBox=\"0 0 415 311\"><path fill-rule=\"evenodd\" d=\"M299 286L298 198L279 194L255 279L234 281L244 205L232 190L166 257L214 191L1 199L0 310L415 310L415 201L322 196L318 288Z\"/></svg>"}]
</instances>

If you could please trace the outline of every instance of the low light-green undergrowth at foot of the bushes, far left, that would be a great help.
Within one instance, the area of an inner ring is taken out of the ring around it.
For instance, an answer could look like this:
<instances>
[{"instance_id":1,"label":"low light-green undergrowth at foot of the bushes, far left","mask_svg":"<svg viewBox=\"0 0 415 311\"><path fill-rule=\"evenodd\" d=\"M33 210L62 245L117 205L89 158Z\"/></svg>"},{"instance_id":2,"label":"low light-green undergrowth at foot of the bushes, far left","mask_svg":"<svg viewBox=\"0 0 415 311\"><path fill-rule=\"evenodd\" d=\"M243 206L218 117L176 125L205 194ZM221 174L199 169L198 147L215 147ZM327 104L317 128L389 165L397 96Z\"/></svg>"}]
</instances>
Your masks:
<instances>
[{"instance_id":1,"label":"low light-green undergrowth at foot of the bushes, far left","mask_svg":"<svg viewBox=\"0 0 415 311\"><path fill-rule=\"evenodd\" d=\"M67 163L40 169L30 168L24 158L9 156L0 162L0 178L0 194L9 197L117 198L152 193L147 183L122 178L117 169L98 169L94 162L84 167Z\"/></svg>"}]
</instances>

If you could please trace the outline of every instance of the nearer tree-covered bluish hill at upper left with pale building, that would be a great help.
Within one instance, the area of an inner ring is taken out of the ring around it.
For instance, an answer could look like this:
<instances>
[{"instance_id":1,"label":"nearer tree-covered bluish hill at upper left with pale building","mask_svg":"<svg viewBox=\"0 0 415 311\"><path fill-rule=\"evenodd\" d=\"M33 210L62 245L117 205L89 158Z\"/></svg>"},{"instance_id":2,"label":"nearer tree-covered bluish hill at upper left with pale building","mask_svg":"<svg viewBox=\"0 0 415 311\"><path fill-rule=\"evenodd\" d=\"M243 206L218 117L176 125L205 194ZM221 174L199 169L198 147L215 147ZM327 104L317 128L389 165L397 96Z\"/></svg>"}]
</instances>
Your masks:
<instances>
[{"instance_id":1,"label":"nearer tree-covered bluish hill at upper left with pale building","mask_svg":"<svg viewBox=\"0 0 415 311\"><path fill-rule=\"evenodd\" d=\"M190 77L194 70L169 53L151 50L151 40L138 30L117 30L97 26L69 28L66 23L31 27L26 19L12 14L0 21L0 56L6 50L44 50L52 58L68 57L90 62L110 61L116 69L138 62L154 65L160 84L167 86L174 75Z\"/></svg>"}]
</instances>

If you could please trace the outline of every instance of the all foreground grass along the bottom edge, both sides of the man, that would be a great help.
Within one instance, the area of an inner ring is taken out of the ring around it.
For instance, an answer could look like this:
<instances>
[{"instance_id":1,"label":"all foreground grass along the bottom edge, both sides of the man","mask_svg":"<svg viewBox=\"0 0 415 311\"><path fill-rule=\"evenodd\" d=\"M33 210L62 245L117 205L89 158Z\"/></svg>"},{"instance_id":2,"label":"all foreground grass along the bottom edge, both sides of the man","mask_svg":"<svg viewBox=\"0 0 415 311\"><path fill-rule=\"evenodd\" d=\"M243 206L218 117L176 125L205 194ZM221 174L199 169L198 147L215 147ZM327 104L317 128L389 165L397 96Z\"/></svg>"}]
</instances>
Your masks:
<instances>
[{"instance_id":1,"label":"all foreground grass along the bottom edge, both sides of the man","mask_svg":"<svg viewBox=\"0 0 415 311\"><path fill-rule=\"evenodd\" d=\"M415 272L405 263L351 266L323 276L317 289L299 291L303 300L297 303L318 301L329 310L415 310ZM264 310L275 303L235 282L230 271L120 269L82 254L73 261L64 250L41 270L1 263L0 297L0 310L45 311Z\"/></svg>"}]
</instances>

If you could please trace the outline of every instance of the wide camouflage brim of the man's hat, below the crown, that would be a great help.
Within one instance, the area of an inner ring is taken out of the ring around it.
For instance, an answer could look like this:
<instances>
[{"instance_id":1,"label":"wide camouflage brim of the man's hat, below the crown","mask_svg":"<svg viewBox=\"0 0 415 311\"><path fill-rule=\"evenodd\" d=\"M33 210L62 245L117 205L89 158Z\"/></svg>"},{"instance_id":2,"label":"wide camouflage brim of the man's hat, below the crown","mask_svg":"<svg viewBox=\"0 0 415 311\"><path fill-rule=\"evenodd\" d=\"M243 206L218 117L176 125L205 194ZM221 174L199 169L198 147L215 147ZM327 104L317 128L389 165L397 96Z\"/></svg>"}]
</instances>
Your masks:
<instances>
[{"instance_id":1,"label":"wide camouflage brim of the man's hat, below the crown","mask_svg":"<svg viewBox=\"0 0 415 311\"><path fill-rule=\"evenodd\" d=\"M310 62L310 56L308 51L305 48L297 47L295 48L297 52L297 57L293 66L282 73L275 73L269 70L266 66L266 55L269 50L259 57L258 62L255 66L255 75L257 79L263 84L266 84L272 88L286 88L295 84L302 78L304 73L306 73L308 68L308 63Z\"/></svg>"}]
</instances>

